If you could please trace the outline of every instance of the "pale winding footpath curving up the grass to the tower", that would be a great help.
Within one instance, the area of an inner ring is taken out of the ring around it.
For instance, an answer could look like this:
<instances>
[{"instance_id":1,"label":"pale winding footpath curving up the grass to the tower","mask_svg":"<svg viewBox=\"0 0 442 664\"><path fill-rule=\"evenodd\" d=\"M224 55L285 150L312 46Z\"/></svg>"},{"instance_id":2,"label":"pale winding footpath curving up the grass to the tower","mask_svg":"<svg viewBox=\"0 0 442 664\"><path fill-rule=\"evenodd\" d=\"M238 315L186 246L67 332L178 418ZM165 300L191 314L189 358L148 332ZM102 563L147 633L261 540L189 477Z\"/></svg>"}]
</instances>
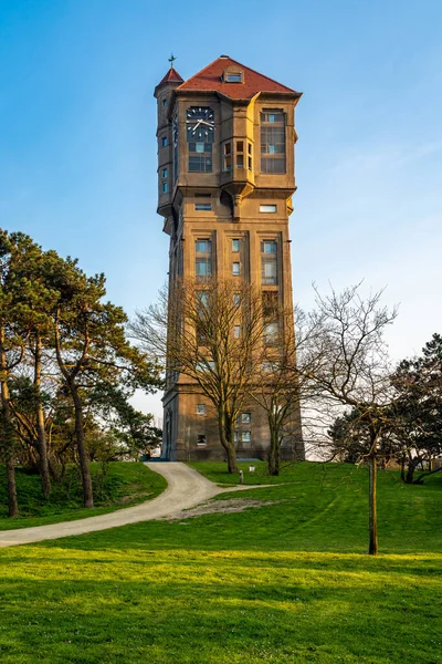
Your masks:
<instances>
[{"instance_id":1,"label":"pale winding footpath curving up the grass to the tower","mask_svg":"<svg viewBox=\"0 0 442 664\"><path fill-rule=\"evenodd\" d=\"M128 523L138 523L139 521L173 517L181 510L196 507L218 496L218 494L253 488L251 485L220 488L193 468L179 461L146 465L155 473L162 475L167 480L167 488L157 498L141 505L136 505L135 507L127 507L108 515L88 517L87 519L78 519L77 521L64 521L62 523L19 528L17 530L2 530L0 531L0 547L29 544L31 542L127 526Z\"/></svg>"}]
</instances>

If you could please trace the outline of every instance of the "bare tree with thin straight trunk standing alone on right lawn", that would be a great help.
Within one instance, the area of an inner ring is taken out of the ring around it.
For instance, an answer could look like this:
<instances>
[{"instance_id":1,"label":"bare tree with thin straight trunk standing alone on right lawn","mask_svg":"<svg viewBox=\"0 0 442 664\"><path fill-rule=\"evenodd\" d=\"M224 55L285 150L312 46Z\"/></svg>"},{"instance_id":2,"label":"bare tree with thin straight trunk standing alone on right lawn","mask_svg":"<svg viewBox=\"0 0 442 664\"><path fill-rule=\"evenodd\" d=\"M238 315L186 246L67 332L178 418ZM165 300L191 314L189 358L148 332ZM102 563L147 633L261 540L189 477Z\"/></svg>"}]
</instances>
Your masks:
<instances>
[{"instance_id":1,"label":"bare tree with thin straight trunk standing alone on right lawn","mask_svg":"<svg viewBox=\"0 0 442 664\"><path fill-rule=\"evenodd\" d=\"M364 298L360 283L341 293L332 289L325 297L315 290L316 309L307 324L311 343L304 349L298 373L311 383L314 413L322 412L322 425L325 414L332 422L343 406L350 406L366 427L362 456L369 465L369 553L376 556L379 440L393 426L396 406L383 333L394 321L397 308L381 305L383 291Z\"/></svg>"}]
</instances>

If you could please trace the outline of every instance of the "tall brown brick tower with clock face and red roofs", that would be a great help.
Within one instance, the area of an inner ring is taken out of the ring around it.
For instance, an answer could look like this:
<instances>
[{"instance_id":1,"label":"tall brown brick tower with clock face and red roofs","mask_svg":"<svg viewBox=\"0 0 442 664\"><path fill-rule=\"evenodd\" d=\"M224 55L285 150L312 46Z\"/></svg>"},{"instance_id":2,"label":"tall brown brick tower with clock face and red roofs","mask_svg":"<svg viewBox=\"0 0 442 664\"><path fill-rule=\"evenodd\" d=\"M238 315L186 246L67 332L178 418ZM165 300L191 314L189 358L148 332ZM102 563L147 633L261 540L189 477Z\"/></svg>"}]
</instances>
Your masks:
<instances>
[{"instance_id":1,"label":"tall brown brick tower with clock face and red roofs","mask_svg":"<svg viewBox=\"0 0 442 664\"><path fill-rule=\"evenodd\" d=\"M221 55L188 81L171 66L155 96L169 279L238 277L293 310L288 217L301 93ZM165 458L224 458L194 384L169 377L164 408ZM264 458L269 428L259 406L241 413L235 439L239 458ZM304 458L299 437L282 457Z\"/></svg>"}]
</instances>

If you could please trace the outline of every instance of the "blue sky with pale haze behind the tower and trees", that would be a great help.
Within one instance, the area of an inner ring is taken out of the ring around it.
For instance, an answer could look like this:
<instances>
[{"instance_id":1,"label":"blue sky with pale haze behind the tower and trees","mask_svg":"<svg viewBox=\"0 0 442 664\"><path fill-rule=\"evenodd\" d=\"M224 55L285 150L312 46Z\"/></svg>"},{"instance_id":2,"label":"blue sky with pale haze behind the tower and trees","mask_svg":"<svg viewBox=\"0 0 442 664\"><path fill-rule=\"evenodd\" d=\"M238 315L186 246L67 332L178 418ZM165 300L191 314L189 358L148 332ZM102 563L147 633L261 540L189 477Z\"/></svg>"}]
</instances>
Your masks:
<instances>
[{"instance_id":1,"label":"blue sky with pale haze behind the tower and trees","mask_svg":"<svg viewBox=\"0 0 442 664\"><path fill-rule=\"evenodd\" d=\"M418 352L442 331L441 24L440 0L0 0L0 226L104 271L129 314L151 302L152 91L171 51L185 79L227 53L304 93L295 298L387 286L391 352Z\"/></svg>"}]
</instances>

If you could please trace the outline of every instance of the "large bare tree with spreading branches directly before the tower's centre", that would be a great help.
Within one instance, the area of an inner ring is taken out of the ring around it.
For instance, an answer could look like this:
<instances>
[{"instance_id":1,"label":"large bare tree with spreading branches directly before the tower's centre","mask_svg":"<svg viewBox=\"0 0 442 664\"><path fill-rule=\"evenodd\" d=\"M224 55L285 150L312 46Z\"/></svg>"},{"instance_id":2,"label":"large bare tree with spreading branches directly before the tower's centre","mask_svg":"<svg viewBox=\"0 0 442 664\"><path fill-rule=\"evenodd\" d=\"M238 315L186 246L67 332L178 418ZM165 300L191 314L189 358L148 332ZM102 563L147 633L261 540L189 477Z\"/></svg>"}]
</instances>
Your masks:
<instances>
[{"instance_id":1,"label":"large bare tree with spreading branches directly before the tower's centre","mask_svg":"<svg viewBox=\"0 0 442 664\"><path fill-rule=\"evenodd\" d=\"M263 330L261 293L219 279L177 280L130 324L141 349L162 363L167 388L183 375L213 404L229 473L238 473L234 426L261 373Z\"/></svg>"}]
</instances>

